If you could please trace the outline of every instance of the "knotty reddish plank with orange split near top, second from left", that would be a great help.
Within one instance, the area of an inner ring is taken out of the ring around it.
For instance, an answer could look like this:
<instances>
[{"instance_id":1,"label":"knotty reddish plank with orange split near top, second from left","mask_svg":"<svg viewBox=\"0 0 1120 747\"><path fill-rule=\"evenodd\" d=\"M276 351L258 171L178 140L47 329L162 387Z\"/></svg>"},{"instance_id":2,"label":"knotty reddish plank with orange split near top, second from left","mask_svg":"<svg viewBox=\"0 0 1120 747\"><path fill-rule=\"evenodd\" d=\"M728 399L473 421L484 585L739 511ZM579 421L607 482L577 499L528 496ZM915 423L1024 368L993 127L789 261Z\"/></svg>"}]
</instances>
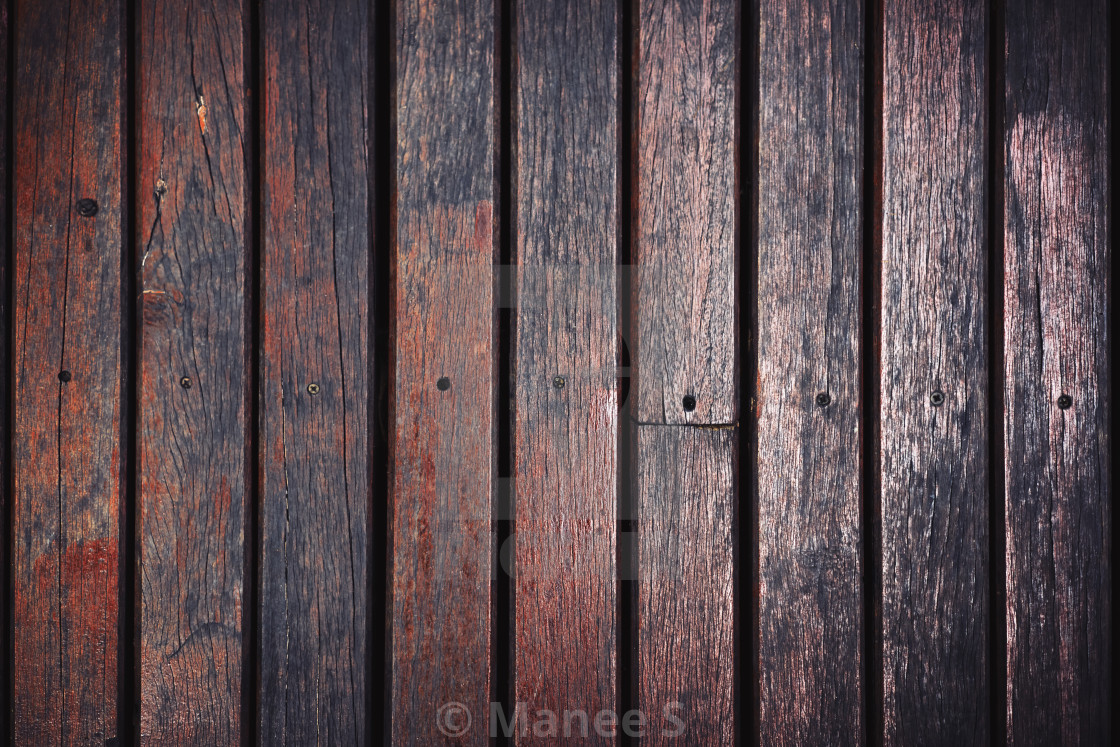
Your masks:
<instances>
[{"instance_id":1,"label":"knotty reddish plank with orange split near top, second from left","mask_svg":"<svg viewBox=\"0 0 1120 747\"><path fill-rule=\"evenodd\" d=\"M243 18L239 0L146 0L138 15L143 744L241 739Z\"/></svg>"}]
</instances>

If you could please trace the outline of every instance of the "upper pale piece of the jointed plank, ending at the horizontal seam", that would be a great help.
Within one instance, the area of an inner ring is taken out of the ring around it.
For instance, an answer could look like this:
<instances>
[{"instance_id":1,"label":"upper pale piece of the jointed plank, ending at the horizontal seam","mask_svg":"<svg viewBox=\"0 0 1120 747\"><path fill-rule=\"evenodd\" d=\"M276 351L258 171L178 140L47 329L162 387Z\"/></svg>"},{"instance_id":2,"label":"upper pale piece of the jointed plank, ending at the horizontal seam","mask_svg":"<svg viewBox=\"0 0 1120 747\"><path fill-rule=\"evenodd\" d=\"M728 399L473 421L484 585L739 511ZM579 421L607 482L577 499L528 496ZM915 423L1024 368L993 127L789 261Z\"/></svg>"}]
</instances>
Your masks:
<instances>
[{"instance_id":1,"label":"upper pale piece of the jointed plank, ending at the horizontal seam","mask_svg":"<svg viewBox=\"0 0 1120 747\"><path fill-rule=\"evenodd\" d=\"M734 423L738 4L637 8L635 417Z\"/></svg>"}]
</instances>

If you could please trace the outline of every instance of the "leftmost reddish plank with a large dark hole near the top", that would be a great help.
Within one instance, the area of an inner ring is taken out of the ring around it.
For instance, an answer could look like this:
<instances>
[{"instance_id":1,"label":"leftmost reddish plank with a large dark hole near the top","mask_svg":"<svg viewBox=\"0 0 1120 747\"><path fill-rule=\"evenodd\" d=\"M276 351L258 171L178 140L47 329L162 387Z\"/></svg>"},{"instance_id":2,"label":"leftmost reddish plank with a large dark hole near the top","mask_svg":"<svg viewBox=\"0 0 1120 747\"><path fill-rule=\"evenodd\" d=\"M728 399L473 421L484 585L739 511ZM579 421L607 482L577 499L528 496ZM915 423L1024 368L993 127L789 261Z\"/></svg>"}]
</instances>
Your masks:
<instances>
[{"instance_id":1,"label":"leftmost reddish plank with a large dark hole near the top","mask_svg":"<svg viewBox=\"0 0 1120 747\"><path fill-rule=\"evenodd\" d=\"M15 737L118 736L119 2L17 3Z\"/></svg>"}]
</instances>

